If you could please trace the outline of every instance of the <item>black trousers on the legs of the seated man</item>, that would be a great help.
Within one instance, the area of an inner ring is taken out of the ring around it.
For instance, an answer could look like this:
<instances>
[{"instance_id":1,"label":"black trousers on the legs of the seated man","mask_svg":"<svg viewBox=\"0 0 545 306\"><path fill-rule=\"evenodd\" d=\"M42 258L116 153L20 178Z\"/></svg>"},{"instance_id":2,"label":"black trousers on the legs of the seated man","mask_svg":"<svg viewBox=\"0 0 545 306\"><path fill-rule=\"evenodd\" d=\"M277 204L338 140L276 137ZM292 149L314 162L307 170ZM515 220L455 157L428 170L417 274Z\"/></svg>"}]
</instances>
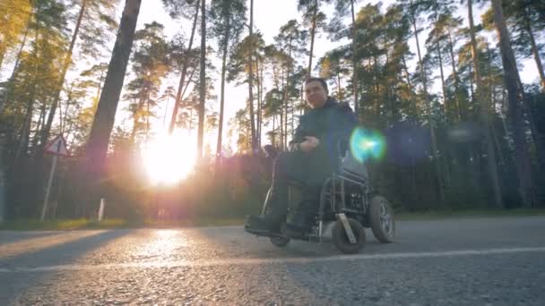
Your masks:
<instances>
[{"instance_id":1,"label":"black trousers on the legs of the seated man","mask_svg":"<svg viewBox=\"0 0 545 306\"><path fill-rule=\"evenodd\" d=\"M274 162L271 191L264 203L264 217L275 224L285 220L290 206L288 188L293 183L301 187L302 199L290 224L310 226L319 207L322 183L329 174L329 171L324 171L324 164L316 153L282 152Z\"/></svg>"}]
</instances>

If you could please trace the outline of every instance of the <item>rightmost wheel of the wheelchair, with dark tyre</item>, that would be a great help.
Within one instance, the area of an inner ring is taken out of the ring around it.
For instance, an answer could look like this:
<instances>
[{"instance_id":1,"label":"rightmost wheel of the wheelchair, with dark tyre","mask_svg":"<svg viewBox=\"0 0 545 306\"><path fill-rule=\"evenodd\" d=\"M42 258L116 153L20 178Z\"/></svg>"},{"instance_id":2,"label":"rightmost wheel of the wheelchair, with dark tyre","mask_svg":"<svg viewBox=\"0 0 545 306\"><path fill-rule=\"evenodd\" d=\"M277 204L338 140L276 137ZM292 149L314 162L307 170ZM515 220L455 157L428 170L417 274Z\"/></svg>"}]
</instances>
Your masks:
<instances>
[{"instance_id":1,"label":"rightmost wheel of the wheelchair, with dark tyre","mask_svg":"<svg viewBox=\"0 0 545 306\"><path fill-rule=\"evenodd\" d=\"M385 197L376 196L371 200L369 221L371 223L371 230L378 242L389 243L394 241L394 210Z\"/></svg>"}]
</instances>

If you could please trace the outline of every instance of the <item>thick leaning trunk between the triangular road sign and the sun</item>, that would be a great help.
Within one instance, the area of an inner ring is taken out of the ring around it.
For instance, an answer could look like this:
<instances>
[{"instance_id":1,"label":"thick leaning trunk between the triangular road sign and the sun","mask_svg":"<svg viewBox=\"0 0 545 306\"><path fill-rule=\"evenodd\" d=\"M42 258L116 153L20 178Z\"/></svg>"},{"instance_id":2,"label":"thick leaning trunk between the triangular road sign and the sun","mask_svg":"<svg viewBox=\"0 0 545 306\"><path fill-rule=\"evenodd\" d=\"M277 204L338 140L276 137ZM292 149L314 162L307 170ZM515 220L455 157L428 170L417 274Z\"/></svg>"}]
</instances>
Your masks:
<instances>
[{"instance_id":1,"label":"thick leaning trunk between the triangular road sign and the sun","mask_svg":"<svg viewBox=\"0 0 545 306\"><path fill-rule=\"evenodd\" d=\"M85 151L85 171L91 182L91 202L98 200L97 184L100 176L105 174L106 155L110 134L116 119L117 104L123 82L126 66L133 48L134 30L140 13L142 0L125 0L125 9L117 32L116 45L108 64L104 89L100 94L99 105L91 126L91 133ZM95 198L97 197L97 198ZM79 209L78 209L79 210Z\"/></svg>"}]
</instances>

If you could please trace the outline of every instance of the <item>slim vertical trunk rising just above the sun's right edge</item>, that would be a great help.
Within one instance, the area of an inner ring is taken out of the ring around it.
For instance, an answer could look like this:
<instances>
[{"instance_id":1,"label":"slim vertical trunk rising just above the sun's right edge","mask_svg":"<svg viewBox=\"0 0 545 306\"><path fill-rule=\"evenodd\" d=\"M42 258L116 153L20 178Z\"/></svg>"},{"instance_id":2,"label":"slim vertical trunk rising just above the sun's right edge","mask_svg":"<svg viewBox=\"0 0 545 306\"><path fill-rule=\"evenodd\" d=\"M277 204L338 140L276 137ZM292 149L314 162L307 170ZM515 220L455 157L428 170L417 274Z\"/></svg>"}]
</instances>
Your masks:
<instances>
[{"instance_id":1,"label":"slim vertical trunk rising just above the sun's right edge","mask_svg":"<svg viewBox=\"0 0 545 306\"><path fill-rule=\"evenodd\" d=\"M203 158L204 110L206 104L206 2L201 2L201 71L199 87L199 127L197 130L197 158Z\"/></svg>"}]
</instances>

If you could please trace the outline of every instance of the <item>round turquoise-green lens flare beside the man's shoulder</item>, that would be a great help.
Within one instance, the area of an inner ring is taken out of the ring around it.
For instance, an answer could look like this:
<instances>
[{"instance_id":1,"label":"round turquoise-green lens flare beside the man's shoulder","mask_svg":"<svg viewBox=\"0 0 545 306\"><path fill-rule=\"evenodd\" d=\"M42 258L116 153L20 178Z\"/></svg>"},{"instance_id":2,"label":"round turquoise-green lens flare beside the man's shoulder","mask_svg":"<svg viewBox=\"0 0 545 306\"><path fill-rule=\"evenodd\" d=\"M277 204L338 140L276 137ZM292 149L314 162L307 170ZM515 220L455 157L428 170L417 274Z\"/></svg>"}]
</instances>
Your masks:
<instances>
[{"instance_id":1,"label":"round turquoise-green lens flare beside the man's shoulder","mask_svg":"<svg viewBox=\"0 0 545 306\"><path fill-rule=\"evenodd\" d=\"M360 163L369 158L380 159L386 150L385 138L379 132L357 128L350 136L350 152Z\"/></svg>"}]
</instances>

